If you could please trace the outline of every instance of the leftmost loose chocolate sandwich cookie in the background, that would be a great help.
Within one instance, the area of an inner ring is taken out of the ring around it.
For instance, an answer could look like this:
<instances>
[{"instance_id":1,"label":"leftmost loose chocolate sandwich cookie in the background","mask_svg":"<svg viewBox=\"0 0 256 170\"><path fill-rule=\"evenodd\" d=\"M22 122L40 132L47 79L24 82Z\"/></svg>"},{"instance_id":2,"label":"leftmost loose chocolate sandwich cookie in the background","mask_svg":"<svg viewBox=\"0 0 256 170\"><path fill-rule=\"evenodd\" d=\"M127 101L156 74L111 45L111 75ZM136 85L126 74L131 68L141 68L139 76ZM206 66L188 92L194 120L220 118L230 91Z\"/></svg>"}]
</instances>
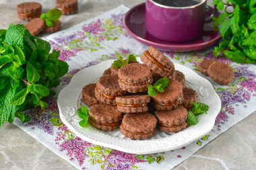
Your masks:
<instances>
[{"instance_id":1,"label":"leftmost loose chocolate sandwich cookie in the background","mask_svg":"<svg viewBox=\"0 0 256 170\"><path fill-rule=\"evenodd\" d=\"M36 17L40 17L42 13L42 5L36 2L20 3L16 6L18 18L24 21L30 21Z\"/></svg>"}]
</instances>

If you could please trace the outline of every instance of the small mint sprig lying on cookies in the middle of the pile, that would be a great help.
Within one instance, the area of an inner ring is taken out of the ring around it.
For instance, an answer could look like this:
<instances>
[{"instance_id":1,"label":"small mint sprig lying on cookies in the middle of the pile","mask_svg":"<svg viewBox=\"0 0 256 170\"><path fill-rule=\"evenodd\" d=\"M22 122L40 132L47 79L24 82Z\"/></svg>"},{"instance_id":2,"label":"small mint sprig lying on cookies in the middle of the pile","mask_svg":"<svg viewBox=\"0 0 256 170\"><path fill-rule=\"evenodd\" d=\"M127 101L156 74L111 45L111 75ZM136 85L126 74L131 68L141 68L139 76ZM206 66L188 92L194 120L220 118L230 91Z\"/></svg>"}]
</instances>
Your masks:
<instances>
[{"instance_id":1,"label":"small mint sprig lying on cookies in the middle of the pile","mask_svg":"<svg viewBox=\"0 0 256 170\"><path fill-rule=\"evenodd\" d=\"M169 79L161 78L154 85L148 86L148 95L154 97L157 95L156 91L164 92L164 88L169 85Z\"/></svg>"}]
</instances>

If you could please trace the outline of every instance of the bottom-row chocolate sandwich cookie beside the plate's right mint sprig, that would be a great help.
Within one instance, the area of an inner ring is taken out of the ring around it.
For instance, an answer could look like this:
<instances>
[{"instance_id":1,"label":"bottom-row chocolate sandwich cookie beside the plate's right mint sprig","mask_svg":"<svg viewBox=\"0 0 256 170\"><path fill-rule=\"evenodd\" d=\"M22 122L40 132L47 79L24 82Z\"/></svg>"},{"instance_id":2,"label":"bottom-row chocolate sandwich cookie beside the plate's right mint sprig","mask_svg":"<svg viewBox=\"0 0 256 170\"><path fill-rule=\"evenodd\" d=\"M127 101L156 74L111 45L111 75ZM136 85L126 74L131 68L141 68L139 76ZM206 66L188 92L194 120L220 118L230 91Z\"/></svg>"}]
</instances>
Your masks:
<instances>
[{"instance_id":1,"label":"bottom-row chocolate sandwich cookie beside the plate's right mint sprig","mask_svg":"<svg viewBox=\"0 0 256 170\"><path fill-rule=\"evenodd\" d=\"M155 112L158 127L164 132L179 132L187 127L187 110L179 105L178 108L168 111Z\"/></svg>"}]
</instances>

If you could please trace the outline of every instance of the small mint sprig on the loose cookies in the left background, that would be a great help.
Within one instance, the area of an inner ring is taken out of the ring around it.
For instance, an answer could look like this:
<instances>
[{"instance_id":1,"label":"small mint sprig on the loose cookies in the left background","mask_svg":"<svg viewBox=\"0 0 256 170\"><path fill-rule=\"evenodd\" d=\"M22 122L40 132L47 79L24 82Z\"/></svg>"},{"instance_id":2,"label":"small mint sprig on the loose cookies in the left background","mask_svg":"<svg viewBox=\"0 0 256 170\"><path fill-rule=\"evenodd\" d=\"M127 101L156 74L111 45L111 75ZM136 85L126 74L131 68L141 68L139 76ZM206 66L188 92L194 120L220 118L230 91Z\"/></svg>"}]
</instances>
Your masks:
<instances>
[{"instance_id":1,"label":"small mint sprig on the loose cookies in the left background","mask_svg":"<svg viewBox=\"0 0 256 170\"><path fill-rule=\"evenodd\" d=\"M40 18L45 21L46 26L53 27L53 24L59 21L61 11L59 9L51 9L47 13L42 13Z\"/></svg>"}]
</instances>

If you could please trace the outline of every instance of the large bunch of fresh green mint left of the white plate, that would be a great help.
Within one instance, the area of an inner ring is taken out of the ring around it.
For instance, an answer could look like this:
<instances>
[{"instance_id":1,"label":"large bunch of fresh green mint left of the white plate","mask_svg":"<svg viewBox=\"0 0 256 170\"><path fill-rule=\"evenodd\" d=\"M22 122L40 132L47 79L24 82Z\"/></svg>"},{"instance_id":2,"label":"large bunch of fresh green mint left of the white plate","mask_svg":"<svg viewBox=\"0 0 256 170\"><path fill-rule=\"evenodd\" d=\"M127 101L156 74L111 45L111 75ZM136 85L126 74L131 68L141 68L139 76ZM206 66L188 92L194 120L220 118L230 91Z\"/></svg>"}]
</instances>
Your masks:
<instances>
[{"instance_id":1,"label":"large bunch of fresh green mint left of the white plate","mask_svg":"<svg viewBox=\"0 0 256 170\"><path fill-rule=\"evenodd\" d=\"M26 122L30 118L24 110L49 106L43 98L54 94L50 88L68 70L58 60L59 51L50 50L49 42L32 36L24 25L0 30L0 126L15 117Z\"/></svg>"}]
</instances>

